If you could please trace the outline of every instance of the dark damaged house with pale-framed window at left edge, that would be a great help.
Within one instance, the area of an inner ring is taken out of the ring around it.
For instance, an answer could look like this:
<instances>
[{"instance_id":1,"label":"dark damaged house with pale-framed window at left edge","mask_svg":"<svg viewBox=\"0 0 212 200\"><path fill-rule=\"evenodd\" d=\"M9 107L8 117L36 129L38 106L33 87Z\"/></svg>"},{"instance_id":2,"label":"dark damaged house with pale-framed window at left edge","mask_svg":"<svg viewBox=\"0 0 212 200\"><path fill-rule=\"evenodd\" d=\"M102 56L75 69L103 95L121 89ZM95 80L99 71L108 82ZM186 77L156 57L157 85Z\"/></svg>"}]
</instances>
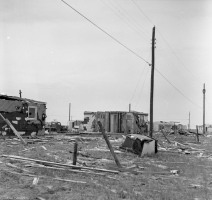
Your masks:
<instances>
[{"instance_id":1,"label":"dark damaged house with pale-framed window at left edge","mask_svg":"<svg viewBox=\"0 0 212 200\"><path fill-rule=\"evenodd\" d=\"M0 95L0 113L21 135L42 134L45 131L45 102ZM0 118L0 135L14 135L2 118Z\"/></svg>"}]
</instances>

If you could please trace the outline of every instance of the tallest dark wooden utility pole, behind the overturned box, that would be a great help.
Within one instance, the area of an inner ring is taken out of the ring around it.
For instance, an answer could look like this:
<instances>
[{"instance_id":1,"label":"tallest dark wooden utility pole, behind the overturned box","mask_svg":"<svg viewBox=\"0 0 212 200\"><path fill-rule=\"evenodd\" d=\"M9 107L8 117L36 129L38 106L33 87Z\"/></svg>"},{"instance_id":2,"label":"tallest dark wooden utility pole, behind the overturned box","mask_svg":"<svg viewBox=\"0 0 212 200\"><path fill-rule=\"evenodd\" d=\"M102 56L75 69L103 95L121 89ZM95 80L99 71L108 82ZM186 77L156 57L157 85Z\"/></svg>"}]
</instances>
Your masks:
<instances>
[{"instance_id":1,"label":"tallest dark wooden utility pole, behind the overturned box","mask_svg":"<svg viewBox=\"0 0 212 200\"><path fill-rule=\"evenodd\" d=\"M150 91L150 130L149 136L153 135L153 94L154 94L154 71L155 71L155 26L152 29L152 64L151 64L151 91Z\"/></svg>"}]
</instances>

